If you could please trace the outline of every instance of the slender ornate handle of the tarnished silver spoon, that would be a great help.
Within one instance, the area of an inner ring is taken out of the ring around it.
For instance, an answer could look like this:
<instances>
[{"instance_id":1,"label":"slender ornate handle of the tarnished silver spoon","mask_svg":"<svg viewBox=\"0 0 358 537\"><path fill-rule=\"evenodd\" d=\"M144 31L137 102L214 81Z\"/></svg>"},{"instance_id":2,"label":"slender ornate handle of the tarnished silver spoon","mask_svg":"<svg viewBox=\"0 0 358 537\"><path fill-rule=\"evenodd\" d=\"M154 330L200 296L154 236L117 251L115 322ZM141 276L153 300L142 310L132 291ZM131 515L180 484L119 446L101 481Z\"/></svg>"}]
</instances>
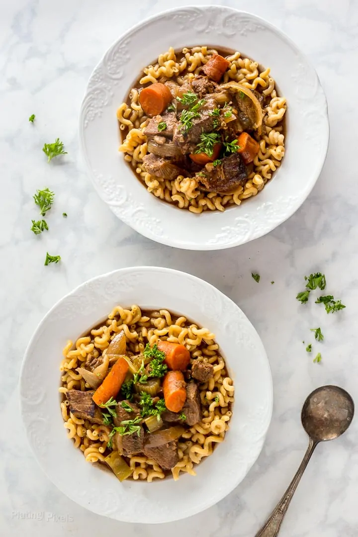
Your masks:
<instances>
[{"instance_id":1,"label":"slender ornate handle of the tarnished silver spoon","mask_svg":"<svg viewBox=\"0 0 358 537\"><path fill-rule=\"evenodd\" d=\"M306 466L309 463L312 453L313 451L315 451L317 443L318 442L313 442L313 440L310 439L310 444L307 448L307 451L304 455L301 465L299 465L299 468L295 474L295 477L291 481L288 489L282 496L280 502L276 505L275 509L272 511L271 515L268 517L266 523L264 524L264 526L262 526L260 531L255 535L255 537L276 537L276 535L279 533L283 517L286 514L286 511L294 495L294 492L297 489L299 480L301 480L302 474L304 470L306 469Z\"/></svg>"}]
</instances>

